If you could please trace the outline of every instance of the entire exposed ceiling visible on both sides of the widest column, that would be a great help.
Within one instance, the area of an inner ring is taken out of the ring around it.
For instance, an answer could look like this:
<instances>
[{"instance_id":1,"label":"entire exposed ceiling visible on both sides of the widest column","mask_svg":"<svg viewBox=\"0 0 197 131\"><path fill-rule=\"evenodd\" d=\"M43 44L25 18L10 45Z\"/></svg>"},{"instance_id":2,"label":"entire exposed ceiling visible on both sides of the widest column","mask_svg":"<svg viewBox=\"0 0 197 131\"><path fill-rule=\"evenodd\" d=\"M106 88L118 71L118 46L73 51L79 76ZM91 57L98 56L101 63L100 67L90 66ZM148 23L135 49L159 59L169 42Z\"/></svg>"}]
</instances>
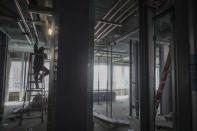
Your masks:
<instances>
[{"instance_id":1,"label":"entire exposed ceiling visible on both sides of the widest column","mask_svg":"<svg viewBox=\"0 0 197 131\"><path fill-rule=\"evenodd\" d=\"M168 9L173 0L152 1L152 6L159 7L157 11L159 14ZM44 13L35 13L34 9L40 9ZM39 40L40 46L49 46L47 30L51 26L50 9L52 9L52 0L0 1L0 30L10 37L10 51L33 51L36 39ZM170 40L170 23L169 15L159 18L155 23L157 40L161 43L167 43ZM138 40L138 32L137 0L95 0L96 58L99 56L106 59L107 52L109 55L107 46L109 50L109 45L113 45L113 58L121 60L122 63L128 63L129 41L130 39Z\"/></svg>"}]
</instances>

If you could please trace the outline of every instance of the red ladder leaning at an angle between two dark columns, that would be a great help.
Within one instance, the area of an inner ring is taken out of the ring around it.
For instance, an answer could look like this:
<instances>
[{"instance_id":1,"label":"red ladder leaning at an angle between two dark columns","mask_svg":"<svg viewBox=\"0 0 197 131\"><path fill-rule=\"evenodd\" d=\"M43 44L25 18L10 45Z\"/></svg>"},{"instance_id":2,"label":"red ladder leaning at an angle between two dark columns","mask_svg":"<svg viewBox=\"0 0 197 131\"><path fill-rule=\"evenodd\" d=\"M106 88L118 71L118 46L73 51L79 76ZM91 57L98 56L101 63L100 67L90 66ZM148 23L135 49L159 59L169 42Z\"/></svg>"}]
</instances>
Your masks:
<instances>
[{"instance_id":1,"label":"red ladder leaning at an angle between two dark columns","mask_svg":"<svg viewBox=\"0 0 197 131\"><path fill-rule=\"evenodd\" d=\"M171 52L169 50L169 53L168 53L168 56L167 56L167 59L166 59L166 63L164 65L164 69L163 69L163 72L161 74L161 79L160 79L160 82L159 82L159 88L158 88L156 96L155 96L156 97L155 98L155 116L157 114L159 104L161 102L162 92L163 92L163 89L165 87L166 80L168 78L170 65L171 65Z\"/></svg>"}]
</instances>

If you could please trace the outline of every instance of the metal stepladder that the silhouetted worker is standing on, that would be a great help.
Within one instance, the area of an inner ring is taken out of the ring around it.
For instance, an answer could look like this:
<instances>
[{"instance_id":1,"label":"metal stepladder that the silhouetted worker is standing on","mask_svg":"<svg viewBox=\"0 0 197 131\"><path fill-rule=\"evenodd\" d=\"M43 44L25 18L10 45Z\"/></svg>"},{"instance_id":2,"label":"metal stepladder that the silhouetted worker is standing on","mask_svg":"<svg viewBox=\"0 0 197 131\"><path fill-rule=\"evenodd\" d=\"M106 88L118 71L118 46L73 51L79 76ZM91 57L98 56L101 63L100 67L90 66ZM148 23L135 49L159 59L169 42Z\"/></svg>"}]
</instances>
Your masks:
<instances>
[{"instance_id":1,"label":"metal stepladder that the silhouetted worker is standing on","mask_svg":"<svg viewBox=\"0 0 197 131\"><path fill-rule=\"evenodd\" d=\"M28 66L28 75L27 75L27 85L25 87L25 94L22 109L20 111L20 121L19 126L22 125L23 120L25 119L41 119L41 123L44 122L44 112L46 108L46 95L45 95L45 82L34 80L32 59L34 54L29 55L29 66ZM39 88L36 88L35 84L39 84ZM35 100L39 99L37 103ZM35 112L32 116L32 113ZM26 115L25 115L26 114Z\"/></svg>"}]
</instances>

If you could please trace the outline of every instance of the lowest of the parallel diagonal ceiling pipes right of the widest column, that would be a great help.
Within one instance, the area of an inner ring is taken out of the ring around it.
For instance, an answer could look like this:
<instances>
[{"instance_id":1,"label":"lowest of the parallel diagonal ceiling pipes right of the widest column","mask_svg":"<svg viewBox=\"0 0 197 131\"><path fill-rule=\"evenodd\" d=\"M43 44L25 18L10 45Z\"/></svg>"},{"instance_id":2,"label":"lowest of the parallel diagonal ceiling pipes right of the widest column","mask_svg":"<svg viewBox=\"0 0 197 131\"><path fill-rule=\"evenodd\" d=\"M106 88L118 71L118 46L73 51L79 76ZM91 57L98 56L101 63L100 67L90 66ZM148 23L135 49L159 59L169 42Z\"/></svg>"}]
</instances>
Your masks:
<instances>
[{"instance_id":1,"label":"lowest of the parallel diagonal ceiling pipes right of the widest column","mask_svg":"<svg viewBox=\"0 0 197 131\"><path fill-rule=\"evenodd\" d=\"M116 19L115 19L115 23L117 23L129 10L131 10L134 6L136 5L136 2L134 2L129 8L127 8L122 14L120 14ZM121 22L119 22L121 23ZM99 37L101 37L107 30L109 30L112 27L112 25L109 25L107 28L105 28L96 38L99 39ZM114 25L114 27L116 28L117 26ZM113 27L113 28L114 28Z\"/></svg>"}]
</instances>

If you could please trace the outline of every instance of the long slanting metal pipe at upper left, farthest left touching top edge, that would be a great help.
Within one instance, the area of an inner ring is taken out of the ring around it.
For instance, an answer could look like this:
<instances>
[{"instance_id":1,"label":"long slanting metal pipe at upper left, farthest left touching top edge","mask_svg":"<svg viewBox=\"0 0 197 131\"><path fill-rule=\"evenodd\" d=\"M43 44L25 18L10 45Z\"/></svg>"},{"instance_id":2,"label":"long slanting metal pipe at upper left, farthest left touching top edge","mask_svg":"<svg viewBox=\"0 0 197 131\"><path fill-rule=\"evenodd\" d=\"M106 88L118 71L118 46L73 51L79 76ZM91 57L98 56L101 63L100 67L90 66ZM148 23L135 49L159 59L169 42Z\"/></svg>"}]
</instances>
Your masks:
<instances>
[{"instance_id":1,"label":"long slanting metal pipe at upper left, farthest left touching top edge","mask_svg":"<svg viewBox=\"0 0 197 131\"><path fill-rule=\"evenodd\" d=\"M23 21L23 24L25 25L25 28L26 28L26 30L27 30L27 33L30 35L31 39L33 40L33 36L32 36L32 34L31 34L30 28L29 28L29 26L28 26L28 24L27 24L27 22L26 22L26 20L25 20L25 17L23 16L21 7L20 7L20 5L19 5L19 3L18 3L17 0L14 0L14 2L15 2L15 4L16 4L18 13L19 13L19 15L20 15L20 17L21 17L21 19L22 19L22 21ZM22 26L22 25L21 25L21 26ZM20 28L21 28L21 27L20 27ZM26 37L26 38L27 38L27 37ZM29 42L29 40L27 40L27 41ZM31 44L31 42L29 42L29 43Z\"/></svg>"}]
</instances>

